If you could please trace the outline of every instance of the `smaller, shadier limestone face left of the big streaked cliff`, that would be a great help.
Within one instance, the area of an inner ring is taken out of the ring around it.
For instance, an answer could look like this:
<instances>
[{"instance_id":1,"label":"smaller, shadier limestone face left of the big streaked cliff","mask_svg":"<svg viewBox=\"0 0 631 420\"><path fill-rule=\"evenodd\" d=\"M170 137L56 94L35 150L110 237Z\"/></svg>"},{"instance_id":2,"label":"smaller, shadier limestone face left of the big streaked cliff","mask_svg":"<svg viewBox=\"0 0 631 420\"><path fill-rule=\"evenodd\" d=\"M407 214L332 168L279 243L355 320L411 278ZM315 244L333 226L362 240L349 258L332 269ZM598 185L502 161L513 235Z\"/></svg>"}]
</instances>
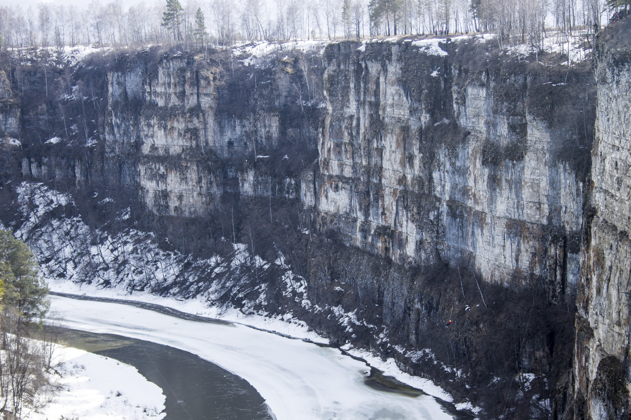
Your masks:
<instances>
[{"instance_id":1,"label":"smaller, shadier limestone face left of the big streaked cliff","mask_svg":"<svg viewBox=\"0 0 631 420\"><path fill-rule=\"evenodd\" d=\"M240 62L236 74L234 68L226 74L218 65L202 55L175 55L150 65L133 60L107 74L105 165L110 174L121 174L123 184L138 188L150 212L206 215L223 193L299 195L297 176L273 174L269 168L276 162L269 161L278 156L269 153L281 134L293 140L292 124L281 130L280 119L293 109L291 92L301 89L300 79L293 71L270 75L270 69ZM274 83L261 83L265 76Z\"/></svg>"}]
</instances>

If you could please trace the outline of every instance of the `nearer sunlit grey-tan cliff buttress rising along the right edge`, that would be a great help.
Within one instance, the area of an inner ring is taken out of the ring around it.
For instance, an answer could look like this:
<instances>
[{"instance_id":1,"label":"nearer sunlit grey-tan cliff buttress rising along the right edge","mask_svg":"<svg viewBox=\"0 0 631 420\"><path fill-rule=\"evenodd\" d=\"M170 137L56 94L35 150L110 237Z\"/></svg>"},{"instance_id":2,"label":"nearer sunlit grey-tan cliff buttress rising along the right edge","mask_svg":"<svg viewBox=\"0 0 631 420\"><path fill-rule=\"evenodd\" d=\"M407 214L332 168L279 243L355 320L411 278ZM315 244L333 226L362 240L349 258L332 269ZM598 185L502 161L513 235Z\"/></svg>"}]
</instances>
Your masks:
<instances>
[{"instance_id":1,"label":"nearer sunlit grey-tan cliff buttress rising along the right edge","mask_svg":"<svg viewBox=\"0 0 631 420\"><path fill-rule=\"evenodd\" d=\"M631 390L631 45L621 37L625 31L606 35L599 44L591 208L575 349L577 411L584 416L579 418L594 419L627 418Z\"/></svg>"}]
</instances>

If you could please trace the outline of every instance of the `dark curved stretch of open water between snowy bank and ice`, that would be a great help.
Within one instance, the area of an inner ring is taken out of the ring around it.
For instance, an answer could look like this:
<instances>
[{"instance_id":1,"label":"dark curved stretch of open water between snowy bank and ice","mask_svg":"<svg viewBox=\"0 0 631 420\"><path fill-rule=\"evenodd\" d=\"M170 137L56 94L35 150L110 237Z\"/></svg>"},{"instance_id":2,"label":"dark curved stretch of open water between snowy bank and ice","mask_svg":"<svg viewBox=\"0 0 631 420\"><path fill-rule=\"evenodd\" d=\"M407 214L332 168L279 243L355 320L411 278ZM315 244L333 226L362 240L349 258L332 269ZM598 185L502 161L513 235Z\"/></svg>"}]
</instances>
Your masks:
<instances>
[{"instance_id":1,"label":"dark curved stretch of open water between snowy bank and ice","mask_svg":"<svg viewBox=\"0 0 631 420\"><path fill-rule=\"evenodd\" d=\"M271 420L261 395L240 378L188 351L114 334L61 329L70 347L132 365L167 396L166 420Z\"/></svg>"}]
</instances>

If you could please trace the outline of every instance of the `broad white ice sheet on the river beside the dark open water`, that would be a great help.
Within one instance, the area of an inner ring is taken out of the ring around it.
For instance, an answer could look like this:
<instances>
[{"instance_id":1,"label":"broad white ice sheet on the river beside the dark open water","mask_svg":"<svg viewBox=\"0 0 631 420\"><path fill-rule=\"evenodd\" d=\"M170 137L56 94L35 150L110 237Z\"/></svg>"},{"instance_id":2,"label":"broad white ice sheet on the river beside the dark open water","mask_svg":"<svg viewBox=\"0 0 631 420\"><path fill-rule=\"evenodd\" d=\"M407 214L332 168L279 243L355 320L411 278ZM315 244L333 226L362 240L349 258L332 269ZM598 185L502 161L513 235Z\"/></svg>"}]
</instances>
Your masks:
<instances>
[{"instance_id":1,"label":"broad white ice sheet on the river beside the dark open water","mask_svg":"<svg viewBox=\"0 0 631 420\"><path fill-rule=\"evenodd\" d=\"M245 378L278 420L447 420L433 397L407 397L364 383L369 368L322 348L242 325L185 321L129 305L51 296L51 312L83 331L153 341L199 355Z\"/></svg>"}]
</instances>

